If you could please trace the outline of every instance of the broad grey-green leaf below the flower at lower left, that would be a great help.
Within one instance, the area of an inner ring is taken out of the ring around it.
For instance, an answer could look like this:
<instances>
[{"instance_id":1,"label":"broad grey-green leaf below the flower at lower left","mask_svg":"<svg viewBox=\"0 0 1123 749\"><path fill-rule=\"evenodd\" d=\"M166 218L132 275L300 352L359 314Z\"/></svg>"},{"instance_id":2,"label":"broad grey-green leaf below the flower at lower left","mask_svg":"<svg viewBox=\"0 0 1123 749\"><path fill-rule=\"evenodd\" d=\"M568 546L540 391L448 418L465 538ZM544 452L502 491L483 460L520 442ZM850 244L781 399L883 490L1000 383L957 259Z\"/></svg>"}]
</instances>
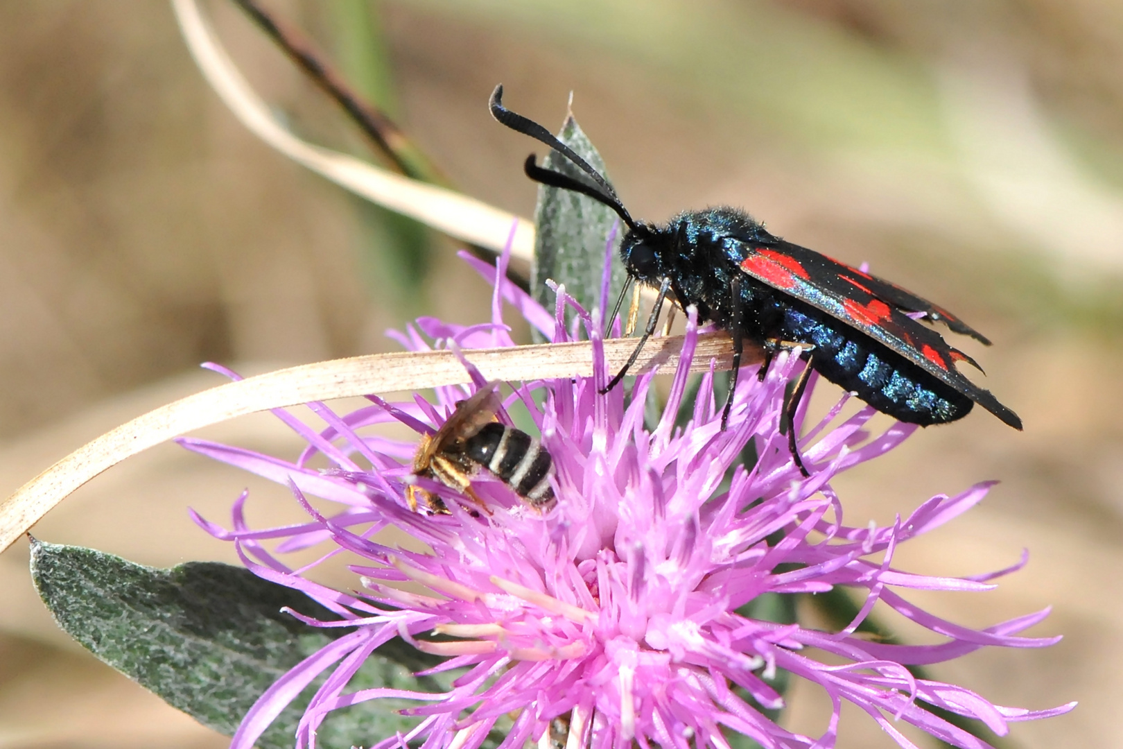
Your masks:
<instances>
[{"instance_id":1,"label":"broad grey-green leaf below the flower at lower left","mask_svg":"<svg viewBox=\"0 0 1123 749\"><path fill-rule=\"evenodd\" d=\"M93 655L194 716L230 736L241 716L279 677L351 629L319 629L281 613L290 606L317 619L338 619L296 591L248 569L190 561L171 569L109 554L33 541L31 576L60 627ZM442 692L447 681L413 670L438 663L395 639L378 648L348 685ZM296 722L325 674L257 741L261 749L293 746ZM334 712L317 734L323 746L371 746L420 719L396 710L416 702L378 700Z\"/></svg>"}]
</instances>

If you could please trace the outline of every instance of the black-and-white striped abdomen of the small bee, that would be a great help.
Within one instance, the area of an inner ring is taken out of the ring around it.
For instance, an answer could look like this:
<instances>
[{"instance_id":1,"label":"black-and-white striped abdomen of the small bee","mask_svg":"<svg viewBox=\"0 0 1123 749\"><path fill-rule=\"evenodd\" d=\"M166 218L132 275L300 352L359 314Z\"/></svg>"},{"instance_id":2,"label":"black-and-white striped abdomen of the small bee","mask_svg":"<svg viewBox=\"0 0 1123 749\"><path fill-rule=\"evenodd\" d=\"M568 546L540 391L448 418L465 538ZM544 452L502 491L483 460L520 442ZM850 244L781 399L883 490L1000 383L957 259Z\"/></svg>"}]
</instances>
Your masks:
<instances>
[{"instance_id":1,"label":"black-and-white striped abdomen of the small bee","mask_svg":"<svg viewBox=\"0 0 1123 749\"><path fill-rule=\"evenodd\" d=\"M493 421L465 439L465 456L508 484L535 506L554 500L550 454L527 432Z\"/></svg>"}]
</instances>

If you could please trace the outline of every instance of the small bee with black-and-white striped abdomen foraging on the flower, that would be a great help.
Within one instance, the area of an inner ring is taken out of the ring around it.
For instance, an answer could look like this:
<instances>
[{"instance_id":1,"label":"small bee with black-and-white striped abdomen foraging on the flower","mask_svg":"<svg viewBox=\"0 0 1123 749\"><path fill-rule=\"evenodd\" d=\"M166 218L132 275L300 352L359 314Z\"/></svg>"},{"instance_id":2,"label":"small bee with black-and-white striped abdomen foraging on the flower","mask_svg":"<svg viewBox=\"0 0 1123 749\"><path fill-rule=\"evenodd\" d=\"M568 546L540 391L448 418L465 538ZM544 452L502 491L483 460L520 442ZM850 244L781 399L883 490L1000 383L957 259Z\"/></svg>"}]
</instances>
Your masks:
<instances>
[{"instance_id":1,"label":"small bee with black-and-white striped abdomen foraging on the flower","mask_svg":"<svg viewBox=\"0 0 1123 749\"><path fill-rule=\"evenodd\" d=\"M527 432L495 421L502 405L497 389L497 382L490 382L467 400L457 402L456 411L440 429L421 438L413 456L413 475L459 490L483 508L485 503L472 490L472 477L486 469L530 506L548 508L554 502L550 486L554 459ZM447 512L439 499L417 486L407 490L411 510L417 510L418 494L433 511Z\"/></svg>"}]
</instances>

